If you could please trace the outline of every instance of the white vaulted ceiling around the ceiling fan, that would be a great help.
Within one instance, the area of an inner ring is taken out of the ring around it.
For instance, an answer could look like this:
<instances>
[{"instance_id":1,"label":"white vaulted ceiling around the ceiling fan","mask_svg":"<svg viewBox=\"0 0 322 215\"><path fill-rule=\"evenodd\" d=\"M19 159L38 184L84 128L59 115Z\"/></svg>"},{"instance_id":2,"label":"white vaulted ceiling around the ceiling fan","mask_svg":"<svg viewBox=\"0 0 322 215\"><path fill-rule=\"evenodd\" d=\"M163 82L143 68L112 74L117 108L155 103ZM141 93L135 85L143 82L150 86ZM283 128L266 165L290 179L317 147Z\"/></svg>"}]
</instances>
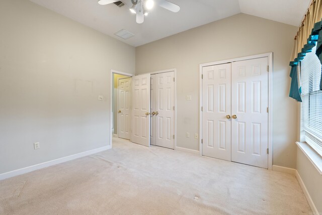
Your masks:
<instances>
[{"instance_id":1,"label":"white vaulted ceiling around the ceiling fan","mask_svg":"<svg viewBox=\"0 0 322 215\"><path fill-rule=\"evenodd\" d=\"M97 0L30 1L134 47L238 13L298 26L310 3L310 0L169 0L180 6L178 13L154 6L144 23L137 24L127 5L101 6ZM127 40L115 36L121 29L135 36Z\"/></svg>"}]
</instances>

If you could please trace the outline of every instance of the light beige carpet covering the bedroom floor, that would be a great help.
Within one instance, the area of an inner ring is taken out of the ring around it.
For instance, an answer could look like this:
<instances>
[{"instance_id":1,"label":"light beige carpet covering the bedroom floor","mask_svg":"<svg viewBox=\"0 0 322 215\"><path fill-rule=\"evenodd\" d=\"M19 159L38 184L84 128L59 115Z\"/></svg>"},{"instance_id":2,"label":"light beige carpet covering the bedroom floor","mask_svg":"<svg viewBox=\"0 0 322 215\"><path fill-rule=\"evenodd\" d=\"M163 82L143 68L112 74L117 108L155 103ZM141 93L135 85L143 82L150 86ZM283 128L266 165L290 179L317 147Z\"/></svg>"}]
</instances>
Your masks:
<instances>
[{"instance_id":1,"label":"light beige carpet covering the bedroom floor","mask_svg":"<svg viewBox=\"0 0 322 215\"><path fill-rule=\"evenodd\" d=\"M0 181L0 214L311 214L295 176L113 139Z\"/></svg>"}]
</instances>

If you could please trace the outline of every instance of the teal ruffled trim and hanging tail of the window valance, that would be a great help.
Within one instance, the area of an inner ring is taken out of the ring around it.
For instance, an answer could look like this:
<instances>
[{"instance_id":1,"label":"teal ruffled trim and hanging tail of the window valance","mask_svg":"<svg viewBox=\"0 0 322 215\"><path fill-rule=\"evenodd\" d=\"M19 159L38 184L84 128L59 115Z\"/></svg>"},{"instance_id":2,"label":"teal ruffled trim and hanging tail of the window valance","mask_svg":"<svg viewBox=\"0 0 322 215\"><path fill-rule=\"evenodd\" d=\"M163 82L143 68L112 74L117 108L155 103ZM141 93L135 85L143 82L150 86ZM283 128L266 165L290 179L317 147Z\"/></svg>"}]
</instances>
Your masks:
<instances>
[{"instance_id":1,"label":"teal ruffled trim and hanging tail of the window valance","mask_svg":"<svg viewBox=\"0 0 322 215\"><path fill-rule=\"evenodd\" d=\"M302 99L298 87L297 66L299 66L300 61L303 60L306 53L312 51L314 46L316 46L315 54L322 64L322 21L314 24L314 28L311 31L311 35L307 39L307 43L302 48L301 52L297 54L297 57L294 59L294 61L290 62L291 87L289 96L298 101L302 101ZM320 79L320 90L322 90L322 75Z\"/></svg>"}]
</instances>

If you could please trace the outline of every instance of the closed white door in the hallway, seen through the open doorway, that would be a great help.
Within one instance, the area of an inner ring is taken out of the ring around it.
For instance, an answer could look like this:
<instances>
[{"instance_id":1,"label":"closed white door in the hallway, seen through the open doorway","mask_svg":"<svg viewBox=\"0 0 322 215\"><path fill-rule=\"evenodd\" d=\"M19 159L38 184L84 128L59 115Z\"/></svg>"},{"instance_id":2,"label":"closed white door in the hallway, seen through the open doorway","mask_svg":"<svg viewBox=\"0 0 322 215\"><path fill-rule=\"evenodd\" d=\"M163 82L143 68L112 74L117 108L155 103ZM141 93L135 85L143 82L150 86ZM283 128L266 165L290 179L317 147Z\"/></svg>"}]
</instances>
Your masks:
<instances>
[{"instance_id":1,"label":"closed white door in the hallway, seen through the open doorway","mask_svg":"<svg viewBox=\"0 0 322 215\"><path fill-rule=\"evenodd\" d=\"M130 139L131 116L131 78L118 80L118 135L119 138Z\"/></svg>"}]
</instances>

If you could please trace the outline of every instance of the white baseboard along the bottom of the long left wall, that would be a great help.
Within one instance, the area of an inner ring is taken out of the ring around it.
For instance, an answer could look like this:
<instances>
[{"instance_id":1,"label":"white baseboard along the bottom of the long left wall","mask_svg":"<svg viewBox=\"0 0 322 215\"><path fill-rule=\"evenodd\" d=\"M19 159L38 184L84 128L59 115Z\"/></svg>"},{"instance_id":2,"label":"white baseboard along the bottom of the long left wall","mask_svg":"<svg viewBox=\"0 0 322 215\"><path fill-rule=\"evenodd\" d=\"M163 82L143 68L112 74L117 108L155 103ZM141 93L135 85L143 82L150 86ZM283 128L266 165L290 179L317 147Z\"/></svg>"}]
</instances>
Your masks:
<instances>
[{"instance_id":1,"label":"white baseboard along the bottom of the long left wall","mask_svg":"<svg viewBox=\"0 0 322 215\"><path fill-rule=\"evenodd\" d=\"M89 150L89 151L86 151L86 152L81 152L81 153L78 153L78 154L58 158L58 159L55 159L55 160L46 161L44 163L39 163L39 164L36 164L36 165L27 166L27 167L17 169L17 170L13 170L13 171L10 171L10 172L5 172L5 173L0 174L0 180L6 179L6 178L11 178L11 177L14 177L14 176L17 176L17 175L22 175L22 174L25 174L25 173L28 173L28 172L32 172L32 171L42 169L42 168L45 168L45 167L48 167L48 166L53 166L53 165L60 164L60 163L70 161L70 160L74 160L74 159L77 159L77 158L85 157L85 156L88 156L88 155L92 155L92 154L102 152L102 151L105 151L105 150L108 150L108 149L111 149L110 145L109 146L104 146L104 147L101 147L101 148L97 148L97 149L92 149L92 150Z\"/></svg>"}]
</instances>

